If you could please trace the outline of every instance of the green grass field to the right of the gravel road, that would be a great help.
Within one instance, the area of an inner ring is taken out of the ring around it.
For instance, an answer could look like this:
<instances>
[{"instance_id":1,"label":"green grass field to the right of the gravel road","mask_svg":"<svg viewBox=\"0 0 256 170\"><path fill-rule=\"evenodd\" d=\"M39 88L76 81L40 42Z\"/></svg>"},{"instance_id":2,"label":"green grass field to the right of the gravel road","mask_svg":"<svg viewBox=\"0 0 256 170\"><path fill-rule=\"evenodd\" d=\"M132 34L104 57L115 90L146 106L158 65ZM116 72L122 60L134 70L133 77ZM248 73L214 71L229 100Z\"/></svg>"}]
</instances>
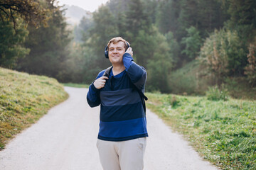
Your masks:
<instances>
[{"instance_id":1,"label":"green grass field to the right of the gravel road","mask_svg":"<svg viewBox=\"0 0 256 170\"><path fill-rule=\"evenodd\" d=\"M147 107L221 169L256 169L256 101L146 94Z\"/></svg>"}]
</instances>

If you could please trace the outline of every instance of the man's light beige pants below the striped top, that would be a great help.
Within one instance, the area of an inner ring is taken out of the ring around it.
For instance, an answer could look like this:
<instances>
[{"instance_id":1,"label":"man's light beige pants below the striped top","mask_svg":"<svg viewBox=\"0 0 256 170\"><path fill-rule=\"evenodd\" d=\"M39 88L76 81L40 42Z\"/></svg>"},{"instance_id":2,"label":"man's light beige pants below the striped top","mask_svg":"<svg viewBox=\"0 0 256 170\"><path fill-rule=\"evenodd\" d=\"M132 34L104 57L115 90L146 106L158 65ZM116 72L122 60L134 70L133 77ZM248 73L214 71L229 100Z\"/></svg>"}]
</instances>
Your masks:
<instances>
[{"instance_id":1,"label":"man's light beige pants below the striped top","mask_svg":"<svg viewBox=\"0 0 256 170\"><path fill-rule=\"evenodd\" d=\"M97 140L104 170L142 170L146 137L122 142Z\"/></svg>"}]
</instances>

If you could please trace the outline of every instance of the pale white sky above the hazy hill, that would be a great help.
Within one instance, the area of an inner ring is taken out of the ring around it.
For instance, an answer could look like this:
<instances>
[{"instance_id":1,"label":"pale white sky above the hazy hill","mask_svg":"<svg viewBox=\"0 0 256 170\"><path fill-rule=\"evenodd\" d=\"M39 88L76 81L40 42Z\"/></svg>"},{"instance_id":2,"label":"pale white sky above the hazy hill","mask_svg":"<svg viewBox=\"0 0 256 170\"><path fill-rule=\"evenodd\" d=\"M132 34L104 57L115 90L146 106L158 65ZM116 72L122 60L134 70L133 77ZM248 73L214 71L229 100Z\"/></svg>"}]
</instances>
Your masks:
<instances>
[{"instance_id":1,"label":"pale white sky above the hazy hill","mask_svg":"<svg viewBox=\"0 0 256 170\"><path fill-rule=\"evenodd\" d=\"M93 12L98 6L101 4L105 4L108 0L58 0L59 5L67 4L67 5L75 5L80 8L85 9L86 11Z\"/></svg>"}]
</instances>

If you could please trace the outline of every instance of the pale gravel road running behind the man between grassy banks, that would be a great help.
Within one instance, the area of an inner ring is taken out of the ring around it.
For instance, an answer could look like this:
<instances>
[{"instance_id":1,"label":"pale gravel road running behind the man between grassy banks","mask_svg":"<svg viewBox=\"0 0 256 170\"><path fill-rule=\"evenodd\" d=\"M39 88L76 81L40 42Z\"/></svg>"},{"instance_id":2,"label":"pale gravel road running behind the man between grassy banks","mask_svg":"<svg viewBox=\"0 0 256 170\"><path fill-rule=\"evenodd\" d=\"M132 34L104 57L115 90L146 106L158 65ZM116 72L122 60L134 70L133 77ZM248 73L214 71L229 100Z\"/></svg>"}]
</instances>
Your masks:
<instances>
[{"instance_id":1,"label":"pale gravel road running behind the man between grassy banks","mask_svg":"<svg viewBox=\"0 0 256 170\"><path fill-rule=\"evenodd\" d=\"M87 89L65 91L70 95L67 101L51 108L0 152L1 170L102 170L96 147L100 107L87 105ZM145 170L217 169L154 113L148 110L146 116Z\"/></svg>"}]
</instances>

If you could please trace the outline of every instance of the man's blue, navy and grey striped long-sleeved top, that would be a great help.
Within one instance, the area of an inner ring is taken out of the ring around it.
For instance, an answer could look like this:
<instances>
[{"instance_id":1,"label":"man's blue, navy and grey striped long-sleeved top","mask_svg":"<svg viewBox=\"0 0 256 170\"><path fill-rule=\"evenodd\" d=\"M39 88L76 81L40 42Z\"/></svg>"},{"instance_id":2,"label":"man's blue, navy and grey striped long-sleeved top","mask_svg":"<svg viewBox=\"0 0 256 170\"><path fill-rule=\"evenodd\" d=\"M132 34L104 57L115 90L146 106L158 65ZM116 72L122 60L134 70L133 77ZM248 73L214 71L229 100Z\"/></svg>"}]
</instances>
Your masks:
<instances>
[{"instance_id":1,"label":"man's blue, navy and grey striped long-sleeved top","mask_svg":"<svg viewBox=\"0 0 256 170\"><path fill-rule=\"evenodd\" d=\"M105 87L96 89L92 83L87 93L90 107L100 105L100 140L124 141L148 136L142 99L135 87L144 92L146 70L129 53L124 53L123 62L123 72L113 76L111 70ZM96 79L104 73L102 70Z\"/></svg>"}]
</instances>

